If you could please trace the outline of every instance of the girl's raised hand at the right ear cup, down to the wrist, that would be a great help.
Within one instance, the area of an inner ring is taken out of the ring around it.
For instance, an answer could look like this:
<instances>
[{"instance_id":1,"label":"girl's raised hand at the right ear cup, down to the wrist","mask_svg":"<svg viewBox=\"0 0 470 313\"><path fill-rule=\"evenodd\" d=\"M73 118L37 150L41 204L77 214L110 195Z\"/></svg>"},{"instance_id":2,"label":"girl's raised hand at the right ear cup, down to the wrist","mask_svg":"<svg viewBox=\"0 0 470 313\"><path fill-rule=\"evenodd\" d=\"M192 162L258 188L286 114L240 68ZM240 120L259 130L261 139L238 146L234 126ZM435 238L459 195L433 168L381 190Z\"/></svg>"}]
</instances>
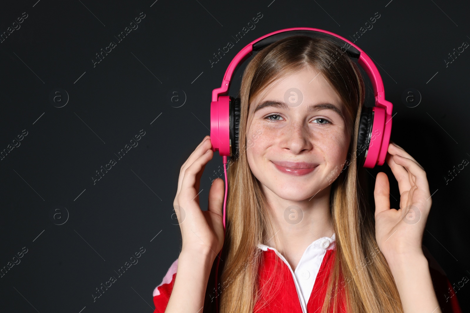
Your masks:
<instances>
[{"instance_id":1,"label":"girl's raised hand at the right ear cup, down to the wrist","mask_svg":"<svg viewBox=\"0 0 470 313\"><path fill-rule=\"evenodd\" d=\"M390 263L397 257L423 254L423 232L432 201L424 168L403 148L389 144L385 160L400 191L400 208L391 209L388 176L384 172L377 174L376 240Z\"/></svg>"}]
</instances>

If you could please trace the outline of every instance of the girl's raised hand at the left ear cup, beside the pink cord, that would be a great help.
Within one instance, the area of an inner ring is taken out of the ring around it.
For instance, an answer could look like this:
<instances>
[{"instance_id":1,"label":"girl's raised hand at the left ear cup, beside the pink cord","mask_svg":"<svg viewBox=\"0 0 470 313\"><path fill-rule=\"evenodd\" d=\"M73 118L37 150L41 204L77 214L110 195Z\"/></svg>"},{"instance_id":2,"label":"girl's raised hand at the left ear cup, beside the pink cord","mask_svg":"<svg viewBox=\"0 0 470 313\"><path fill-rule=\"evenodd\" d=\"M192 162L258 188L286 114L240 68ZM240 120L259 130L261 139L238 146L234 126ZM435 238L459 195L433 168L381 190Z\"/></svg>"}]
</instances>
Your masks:
<instances>
[{"instance_id":1,"label":"girl's raised hand at the left ear cup, beside the pink cord","mask_svg":"<svg viewBox=\"0 0 470 313\"><path fill-rule=\"evenodd\" d=\"M212 182L207 211L201 210L198 195L204 167L213 157L211 147L210 136L204 137L181 166L173 207L183 240L181 252L215 259L224 242L224 181L217 178Z\"/></svg>"}]
</instances>

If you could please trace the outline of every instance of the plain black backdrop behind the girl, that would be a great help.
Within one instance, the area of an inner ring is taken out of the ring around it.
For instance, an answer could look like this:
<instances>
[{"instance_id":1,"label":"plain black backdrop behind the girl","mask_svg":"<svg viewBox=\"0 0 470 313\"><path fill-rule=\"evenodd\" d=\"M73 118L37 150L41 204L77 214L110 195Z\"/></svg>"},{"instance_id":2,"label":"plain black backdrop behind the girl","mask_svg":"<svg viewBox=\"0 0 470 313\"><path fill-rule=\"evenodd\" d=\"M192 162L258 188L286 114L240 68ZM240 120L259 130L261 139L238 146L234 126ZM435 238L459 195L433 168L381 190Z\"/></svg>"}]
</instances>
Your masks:
<instances>
[{"instance_id":1,"label":"plain black backdrop behind the girl","mask_svg":"<svg viewBox=\"0 0 470 313\"><path fill-rule=\"evenodd\" d=\"M0 43L0 151L27 131L0 161L0 268L23 247L28 252L0 278L2 312L151 313L152 291L180 252L172 215L180 167L209 134L211 92L229 62L284 28L352 40L376 12L380 18L355 44L376 62L394 104L392 140L426 170L432 207L423 243L451 283L470 277L470 169L447 184L444 178L470 160L470 52L445 62L470 43L464 1L14 1L1 6L0 33L23 12L21 28ZM141 12L138 28L118 42L114 36ZM235 42L258 12L255 29ZM111 41L117 46L93 64ZM235 46L211 67L228 41ZM415 102L402 101L408 88L419 91ZM141 130L138 145L118 160L115 153ZM117 164L94 184L110 159ZM219 166L216 153L202 177L204 210ZM372 186L379 171L399 199L386 165L368 169ZM93 301L95 289L141 247L138 263ZM464 312L469 295L468 283L456 293Z\"/></svg>"}]
</instances>

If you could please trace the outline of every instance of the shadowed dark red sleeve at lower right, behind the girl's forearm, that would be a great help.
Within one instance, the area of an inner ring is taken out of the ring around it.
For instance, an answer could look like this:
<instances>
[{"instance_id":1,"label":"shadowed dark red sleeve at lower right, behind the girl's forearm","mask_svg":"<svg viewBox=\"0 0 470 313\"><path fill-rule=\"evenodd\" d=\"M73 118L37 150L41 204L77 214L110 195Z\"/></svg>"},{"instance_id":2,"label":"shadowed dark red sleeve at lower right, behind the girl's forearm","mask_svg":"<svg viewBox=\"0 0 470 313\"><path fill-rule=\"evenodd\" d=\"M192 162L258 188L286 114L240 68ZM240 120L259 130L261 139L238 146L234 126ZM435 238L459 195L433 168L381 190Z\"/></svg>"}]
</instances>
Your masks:
<instances>
[{"instance_id":1,"label":"shadowed dark red sleeve at lower right, behind the girl's forearm","mask_svg":"<svg viewBox=\"0 0 470 313\"><path fill-rule=\"evenodd\" d=\"M456 296L458 287L457 290L454 290L454 287L447 278L446 273L425 246L423 246L423 253L429 263L429 272L431 274L432 284L442 312L462 313Z\"/></svg>"}]
</instances>

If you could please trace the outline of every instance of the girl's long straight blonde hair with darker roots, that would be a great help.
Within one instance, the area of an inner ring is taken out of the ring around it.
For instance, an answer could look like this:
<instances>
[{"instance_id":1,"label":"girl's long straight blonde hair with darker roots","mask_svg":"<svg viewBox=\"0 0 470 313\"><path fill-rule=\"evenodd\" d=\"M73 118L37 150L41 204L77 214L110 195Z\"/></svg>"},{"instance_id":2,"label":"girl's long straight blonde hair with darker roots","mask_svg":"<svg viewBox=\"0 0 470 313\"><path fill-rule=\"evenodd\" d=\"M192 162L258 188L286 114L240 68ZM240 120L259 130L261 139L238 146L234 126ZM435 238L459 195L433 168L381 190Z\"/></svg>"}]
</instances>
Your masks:
<instances>
[{"instance_id":1,"label":"girl's long straight blonde hair with darker roots","mask_svg":"<svg viewBox=\"0 0 470 313\"><path fill-rule=\"evenodd\" d=\"M306 36L284 38L265 47L253 56L243 73L240 155L231 160L227 173L227 229L221 254L223 261L219 265L219 312L251 313L259 294L269 291L259 290L258 269L262 266L262 255L257 245L265 242L263 234L267 229L274 233L273 226L265 211L266 198L251 173L245 153L249 148L246 130L251 100L276 79L305 68L320 71L337 91L345 103L346 125L351 136L350 164L331 184L330 208L337 250L328 282L325 282L328 287L321 313L339 311L339 290L344 292L348 312L403 312L390 268L383 254L377 252L373 212L366 201L365 172L357 164L358 127L365 99L362 76L357 65L336 45ZM207 285L204 312L215 312L213 275L214 267Z\"/></svg>"}]
</instances>

